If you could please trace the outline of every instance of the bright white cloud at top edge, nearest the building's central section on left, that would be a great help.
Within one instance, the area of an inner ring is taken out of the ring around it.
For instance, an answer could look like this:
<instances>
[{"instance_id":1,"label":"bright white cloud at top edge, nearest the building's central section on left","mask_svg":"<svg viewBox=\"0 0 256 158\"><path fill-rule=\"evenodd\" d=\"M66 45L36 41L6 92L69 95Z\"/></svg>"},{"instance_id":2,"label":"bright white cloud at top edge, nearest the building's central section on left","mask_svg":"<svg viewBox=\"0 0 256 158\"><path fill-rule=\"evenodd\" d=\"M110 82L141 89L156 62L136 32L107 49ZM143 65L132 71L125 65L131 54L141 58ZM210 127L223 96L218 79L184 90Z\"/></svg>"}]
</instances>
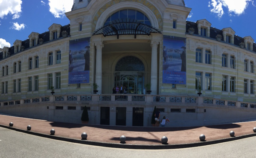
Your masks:
<instances>
[{"instance_id":1,"label":"bright white cloud at top edge, nearest the building's central section on left","mask_svg":"<svg viewBox=\"0 0 256 158\"><path fill-rule=\"evenodd\" d=\"M73 0L48 0L49 11L54 17L64 17L65 12L71 11Z\"/></svg>"}]
</instances>

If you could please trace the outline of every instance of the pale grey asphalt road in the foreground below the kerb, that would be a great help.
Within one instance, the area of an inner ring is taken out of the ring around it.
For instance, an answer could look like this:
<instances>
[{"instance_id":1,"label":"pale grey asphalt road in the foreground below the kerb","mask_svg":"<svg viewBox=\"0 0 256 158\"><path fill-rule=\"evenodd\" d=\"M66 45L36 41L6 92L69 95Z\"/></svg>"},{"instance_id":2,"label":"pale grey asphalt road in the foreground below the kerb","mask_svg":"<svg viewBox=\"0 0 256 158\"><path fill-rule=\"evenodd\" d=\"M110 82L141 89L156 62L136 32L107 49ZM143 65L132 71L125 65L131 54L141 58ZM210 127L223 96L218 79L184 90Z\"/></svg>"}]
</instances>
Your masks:
<instances>
[{"instance_id":1,"label":"pale grey asphalt road in the foreground below the kerb","mask_svg":"<svg viewBox=\"0 0 256 158\"><path fill-rule=\"evenodd\" d=\"M0 158L253 158L256 137L202 147L131 150L57 141L0 127Z\"/></svg>"}]
</instances>

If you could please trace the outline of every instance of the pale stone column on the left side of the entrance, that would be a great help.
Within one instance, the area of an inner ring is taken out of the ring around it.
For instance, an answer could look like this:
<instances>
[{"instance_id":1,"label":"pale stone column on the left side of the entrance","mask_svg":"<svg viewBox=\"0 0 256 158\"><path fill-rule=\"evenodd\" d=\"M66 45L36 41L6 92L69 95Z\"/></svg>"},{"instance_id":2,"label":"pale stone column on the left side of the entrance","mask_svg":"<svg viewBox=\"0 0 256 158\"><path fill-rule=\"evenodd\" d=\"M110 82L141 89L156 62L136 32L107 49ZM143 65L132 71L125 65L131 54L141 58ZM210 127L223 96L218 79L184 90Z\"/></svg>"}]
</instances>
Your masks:
<instances>
[{"instance_id":1,"label":"pale stone column on the left side of the entrance","mask_svg":"<svg viewBox=\"0 0 256 158\"><path fill-rule=\"evenodd\" d=\"M104 47L102 42L94 43L96 46L96 74L95 83L98 87L98 94L102 93L102 48Z\"/></svg>"}]
</instances>

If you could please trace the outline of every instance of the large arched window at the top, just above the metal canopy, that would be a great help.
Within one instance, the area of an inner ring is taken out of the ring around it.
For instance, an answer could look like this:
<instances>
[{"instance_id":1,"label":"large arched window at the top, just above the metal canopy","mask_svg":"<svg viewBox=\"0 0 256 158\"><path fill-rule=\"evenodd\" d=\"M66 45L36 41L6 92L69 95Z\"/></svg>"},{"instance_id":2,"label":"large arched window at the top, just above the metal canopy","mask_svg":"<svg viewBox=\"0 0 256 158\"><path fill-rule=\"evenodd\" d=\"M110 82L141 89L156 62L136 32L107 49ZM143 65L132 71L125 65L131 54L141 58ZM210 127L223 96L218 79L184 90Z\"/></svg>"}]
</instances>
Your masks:
<instances>
[{"instance_id":1,"label":"large arched window at the top, just above the metal canopy","mask_svg":"<svg viewBox=\"0 0 256 158\"><path fill-rule=\"evenodd\" d=\"M135 19L145 25L151 26L151 23L148 17L142 12L134 9L124 9L124 10L116 11L114 14L108 17L108 19L104 23L104 26L108 25L113 20L126 19L126 18Z\"/></svg>"}]
</instances>

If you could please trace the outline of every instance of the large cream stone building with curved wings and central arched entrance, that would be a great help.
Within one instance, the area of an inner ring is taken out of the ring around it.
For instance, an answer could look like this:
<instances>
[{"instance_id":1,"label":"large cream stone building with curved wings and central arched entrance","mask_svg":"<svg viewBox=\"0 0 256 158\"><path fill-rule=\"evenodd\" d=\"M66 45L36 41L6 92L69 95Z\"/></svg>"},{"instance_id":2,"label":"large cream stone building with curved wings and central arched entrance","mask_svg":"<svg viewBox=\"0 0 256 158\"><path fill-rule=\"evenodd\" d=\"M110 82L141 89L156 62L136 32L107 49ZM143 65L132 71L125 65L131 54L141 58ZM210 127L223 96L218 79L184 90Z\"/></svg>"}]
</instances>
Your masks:
<instances>
[{"instance_id":1,"label":"large cream stone building with curved wings and central arched entrance","mask_svg":"<svg viewBox=\"0 0 256 158\"><path fill-rule=\"evenodd\" d=\"M169 126L255 119L254 40L186 21L190 11L183 0L75 0L69 25L1 50L0 112L79 122L86 105L89 123L126 126L150 126L155 106Z\"/></svg>"}]
</instances>

